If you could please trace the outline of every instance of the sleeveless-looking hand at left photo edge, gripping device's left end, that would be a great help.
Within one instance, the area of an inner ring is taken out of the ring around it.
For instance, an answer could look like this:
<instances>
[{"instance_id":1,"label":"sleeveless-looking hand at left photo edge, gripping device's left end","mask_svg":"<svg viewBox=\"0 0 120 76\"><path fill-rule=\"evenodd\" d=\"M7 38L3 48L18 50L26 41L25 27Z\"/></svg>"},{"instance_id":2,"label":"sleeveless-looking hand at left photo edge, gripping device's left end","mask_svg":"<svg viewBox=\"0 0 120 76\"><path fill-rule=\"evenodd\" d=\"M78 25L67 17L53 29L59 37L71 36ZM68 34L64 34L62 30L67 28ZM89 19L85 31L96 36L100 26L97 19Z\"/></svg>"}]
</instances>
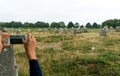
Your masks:
<instances>
[{"instance_id":1,"label":"sleeveless-looking hand at left photo edge, gripping device's left end","mask_svg":"<svg viewBox=\"0 0 120 76\"><path fill-rule=\"evenodd\" d=\"M10 36L9 33L0 33L0 53L6 47L12 46L12 44L5 44L5 40Z\"/></svg>"}]
</instances>

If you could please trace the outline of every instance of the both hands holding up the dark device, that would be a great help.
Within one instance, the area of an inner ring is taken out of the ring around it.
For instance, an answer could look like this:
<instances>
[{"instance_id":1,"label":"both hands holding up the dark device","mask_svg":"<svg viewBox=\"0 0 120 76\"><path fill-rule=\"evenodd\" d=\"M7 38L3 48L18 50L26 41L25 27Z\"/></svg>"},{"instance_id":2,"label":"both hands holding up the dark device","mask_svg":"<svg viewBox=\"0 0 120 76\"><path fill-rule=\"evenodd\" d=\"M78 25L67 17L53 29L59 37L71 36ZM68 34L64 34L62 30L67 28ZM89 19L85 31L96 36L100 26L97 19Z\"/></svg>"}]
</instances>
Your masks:
<instances>
[{"instance_id":1,"label":"both hands holding up the dark device","mask_svg":"<svg viewBox=\"0 0 120 76\"><path fill-rule=\"evenodd\" d=\"M13 46L12 44L5 44L5 40L10 36L9 33L0 33L0 53L2 50L6 47ZM37 59L35 48L36 48L36 39L34 36L27 34L27 40L23 39L23 44L25 47L26 54L29 58L29 60Z\"/></svg>"}]
</instances>

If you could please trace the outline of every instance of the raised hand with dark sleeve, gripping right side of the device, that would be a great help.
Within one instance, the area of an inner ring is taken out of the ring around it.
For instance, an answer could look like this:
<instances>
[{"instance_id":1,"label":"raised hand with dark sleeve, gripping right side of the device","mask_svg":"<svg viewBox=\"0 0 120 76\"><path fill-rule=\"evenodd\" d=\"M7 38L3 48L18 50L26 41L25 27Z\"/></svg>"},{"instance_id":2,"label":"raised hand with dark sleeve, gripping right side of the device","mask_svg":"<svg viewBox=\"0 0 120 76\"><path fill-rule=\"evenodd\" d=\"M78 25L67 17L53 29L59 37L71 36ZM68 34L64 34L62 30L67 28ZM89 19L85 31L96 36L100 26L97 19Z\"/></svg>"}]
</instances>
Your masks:
<instances>
[{"instance_id":1,"label":"raised hand with dark sleeve, gripping right side of the device","mask_svg":"<svg viewBox=\"0 0 120 76\"><path fill-rule=\"evenodd\" d=\"M34 36L31 36L30 33L27 34L27 39L23 39L23 44L25 47L25 51L29 60L37 59L35 48L36 48L36 39Z\"/></svg>"}]
</instances>

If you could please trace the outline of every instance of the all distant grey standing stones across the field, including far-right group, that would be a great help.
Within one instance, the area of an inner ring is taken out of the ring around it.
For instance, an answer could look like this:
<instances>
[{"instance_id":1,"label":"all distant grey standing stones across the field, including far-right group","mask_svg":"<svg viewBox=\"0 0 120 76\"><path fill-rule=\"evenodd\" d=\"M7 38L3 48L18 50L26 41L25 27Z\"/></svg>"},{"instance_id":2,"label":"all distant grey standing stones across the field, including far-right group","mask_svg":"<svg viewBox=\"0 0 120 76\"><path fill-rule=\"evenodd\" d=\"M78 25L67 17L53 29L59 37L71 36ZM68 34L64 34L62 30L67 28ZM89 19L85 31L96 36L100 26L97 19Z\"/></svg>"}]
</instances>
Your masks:
<instances>
[{"instance_id":1,"label":"all distant grey standing stones across the field, including far-right group","mask_svg":"<svg viewBox=\"0 0 120 76\"><path fill-rule=\"evenodd\" d=\"M101 28L100 36L104 36L104 37L107 36L107 33L109 31L120 32L120 26L116 27L115 29L113 27L108 28L107 26L105 26L104 28ZM15 30L14 30L14 28L11 28L11 30L8 31L8 32L15 32ZM33 32L33 30L28 28L26 32L31 33L31 32ZM51 28L45 28L45 29L38 28L37 32L38 33L41 33L41 32L51 33ZM89 31L88 31L88 29L86 27L71 28L70 30L68 30L67 28L55 28L53 30L53 33L60 33L60 34L67 34L68 32L71 32L71 34L76 35L76 34L80 34L80 33L87 33ZM19 35L21 33L22 33L22 28L19 28L16 31L16 34Z\"/></svg>"}]
</instances>

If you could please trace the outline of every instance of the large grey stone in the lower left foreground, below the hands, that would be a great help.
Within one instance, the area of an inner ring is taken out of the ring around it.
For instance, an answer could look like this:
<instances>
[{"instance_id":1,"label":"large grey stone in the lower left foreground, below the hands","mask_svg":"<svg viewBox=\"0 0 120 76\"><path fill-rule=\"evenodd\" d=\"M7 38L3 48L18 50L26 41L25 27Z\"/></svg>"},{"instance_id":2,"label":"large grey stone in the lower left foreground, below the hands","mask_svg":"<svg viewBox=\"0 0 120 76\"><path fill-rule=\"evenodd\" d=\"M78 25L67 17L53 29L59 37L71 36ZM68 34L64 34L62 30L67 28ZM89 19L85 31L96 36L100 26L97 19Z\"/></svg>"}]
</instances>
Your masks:
<instances>
[{"instance_id":1,"label":"large grey stone in the lower left foreground, below the hands","mask_svg":"<svg viewBox=\"0 0 120 76\"><path fill-rule=\"evenodd\" d=\"M5 48L0 53L0 76L18 76L13 47Z\"/></svg>"}]
</instances>

